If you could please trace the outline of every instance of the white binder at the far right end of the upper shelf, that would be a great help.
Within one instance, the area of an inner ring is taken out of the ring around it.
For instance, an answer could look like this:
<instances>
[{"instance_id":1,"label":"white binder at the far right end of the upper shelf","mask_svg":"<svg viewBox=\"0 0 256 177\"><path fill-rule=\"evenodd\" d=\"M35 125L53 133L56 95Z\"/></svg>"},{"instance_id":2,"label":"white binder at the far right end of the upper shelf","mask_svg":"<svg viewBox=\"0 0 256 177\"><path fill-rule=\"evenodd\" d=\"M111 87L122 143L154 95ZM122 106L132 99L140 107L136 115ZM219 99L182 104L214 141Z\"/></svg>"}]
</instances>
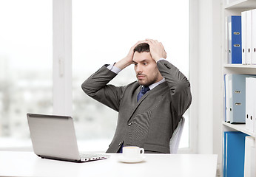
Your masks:
<instances>
[{"instance_id":1,"label":"white binder at the far right end of the upper shelf","mask_svg":"<svg viewBox=\"0 0 256 177\"><path fill-rule=\"evenodd\" d=\"M252 64L256 64L256 9L252 10Z\"/></svg>"}]
</instances>

